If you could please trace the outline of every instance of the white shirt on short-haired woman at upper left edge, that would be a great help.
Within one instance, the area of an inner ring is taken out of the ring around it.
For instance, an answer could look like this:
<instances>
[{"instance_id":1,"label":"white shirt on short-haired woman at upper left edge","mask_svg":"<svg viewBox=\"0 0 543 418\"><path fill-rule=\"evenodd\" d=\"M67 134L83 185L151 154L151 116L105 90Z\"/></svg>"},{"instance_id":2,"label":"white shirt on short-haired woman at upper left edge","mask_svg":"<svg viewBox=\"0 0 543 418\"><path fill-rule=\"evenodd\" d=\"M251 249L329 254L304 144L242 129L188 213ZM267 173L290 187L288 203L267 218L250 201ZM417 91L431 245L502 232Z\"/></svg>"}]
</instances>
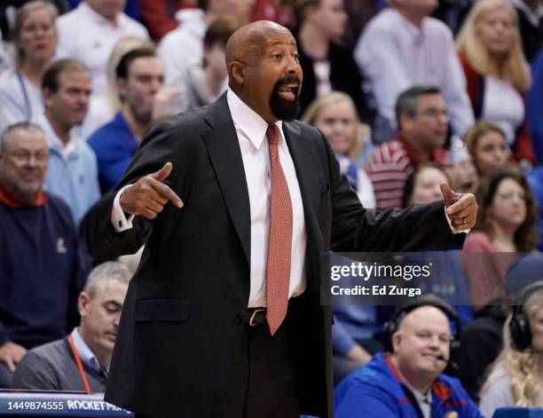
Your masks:
<instances>
[{"instance_id":1,"label":"white shirt on short-haired woman at upper left edge","mask_svg":"<svg viewBox=\"0 0 543 418\"><path fill-rule=\"evenodd\" d=\"M20 71L0 75L0 132L13 123L43 114L42 91Z\"/></svg>"}]
</instances>

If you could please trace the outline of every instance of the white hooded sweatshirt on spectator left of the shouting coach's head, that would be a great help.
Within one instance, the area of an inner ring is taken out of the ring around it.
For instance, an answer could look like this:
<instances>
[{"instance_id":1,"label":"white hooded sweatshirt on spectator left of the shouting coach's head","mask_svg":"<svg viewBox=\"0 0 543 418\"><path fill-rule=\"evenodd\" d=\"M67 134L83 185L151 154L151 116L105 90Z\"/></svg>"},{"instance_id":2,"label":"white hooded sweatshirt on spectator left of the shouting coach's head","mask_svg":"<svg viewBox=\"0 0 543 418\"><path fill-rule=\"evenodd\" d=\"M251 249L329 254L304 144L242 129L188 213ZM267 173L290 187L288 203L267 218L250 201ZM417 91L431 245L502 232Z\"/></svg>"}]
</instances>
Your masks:
<instances>
[{"instance_id":1,"label":"white hooded sweatshirt on spectator left of the shouting coach's head","mask_svg":"<svg viewBox=\"0 0 543 418\"><path fill-rule=\"evenodd\" d=\"M166 84L179 86L192 67L201 65L207 27L201 9L181 10L176 19L181 24L162 38L158 55L166 68Z\"/></svg>"}]
</instances>

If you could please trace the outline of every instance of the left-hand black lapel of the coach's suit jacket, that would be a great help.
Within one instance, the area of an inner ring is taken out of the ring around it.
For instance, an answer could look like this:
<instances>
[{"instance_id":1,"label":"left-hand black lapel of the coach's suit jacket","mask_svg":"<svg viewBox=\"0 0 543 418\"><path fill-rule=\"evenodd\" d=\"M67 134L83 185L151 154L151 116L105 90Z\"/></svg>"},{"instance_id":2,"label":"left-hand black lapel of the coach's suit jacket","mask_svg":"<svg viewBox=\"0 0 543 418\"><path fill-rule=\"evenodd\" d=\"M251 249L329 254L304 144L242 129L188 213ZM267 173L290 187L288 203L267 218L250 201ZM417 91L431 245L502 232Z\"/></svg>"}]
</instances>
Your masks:
<instances>
[{"instance_id":1,"label":"left-hand black lapel of the coach's suit jacket","mask_svg":"<svg viewBox=\"0 0 543 418\"><path fill-rule=\"evenodd\" d=\"M211 130L203 134L209 159L216 172L226 207L250 265L251 215L247 180L241 159L240 142L226 102L226 94L209 106L205 116Z\"/></svg>"}]
</instances>

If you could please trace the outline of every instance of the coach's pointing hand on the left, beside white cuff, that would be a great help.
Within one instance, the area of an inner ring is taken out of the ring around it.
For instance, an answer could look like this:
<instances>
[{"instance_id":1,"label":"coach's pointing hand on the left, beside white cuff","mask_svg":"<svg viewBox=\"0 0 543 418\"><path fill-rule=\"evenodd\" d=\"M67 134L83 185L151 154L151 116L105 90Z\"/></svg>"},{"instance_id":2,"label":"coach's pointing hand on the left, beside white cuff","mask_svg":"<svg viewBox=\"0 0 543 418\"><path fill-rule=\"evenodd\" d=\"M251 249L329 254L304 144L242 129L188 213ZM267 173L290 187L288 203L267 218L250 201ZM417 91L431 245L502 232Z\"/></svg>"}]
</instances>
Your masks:
<instances>
[{"instance_id":1,"label":"coach's pointing hand on the left, beside white cuff","mask_svg":"<svg viewBox=\"0 0 543 418\"><path fill-rule=\"evenodd\" d=\"M119 199L121 209L131 215L154 219L168 201L179 209L183 208L183 201L179 199L179 196L168 185L162 183L168 178L171 169L171 162L166 162L161 170L142 177L127 187Z\"/></svg>"}]
</instances>

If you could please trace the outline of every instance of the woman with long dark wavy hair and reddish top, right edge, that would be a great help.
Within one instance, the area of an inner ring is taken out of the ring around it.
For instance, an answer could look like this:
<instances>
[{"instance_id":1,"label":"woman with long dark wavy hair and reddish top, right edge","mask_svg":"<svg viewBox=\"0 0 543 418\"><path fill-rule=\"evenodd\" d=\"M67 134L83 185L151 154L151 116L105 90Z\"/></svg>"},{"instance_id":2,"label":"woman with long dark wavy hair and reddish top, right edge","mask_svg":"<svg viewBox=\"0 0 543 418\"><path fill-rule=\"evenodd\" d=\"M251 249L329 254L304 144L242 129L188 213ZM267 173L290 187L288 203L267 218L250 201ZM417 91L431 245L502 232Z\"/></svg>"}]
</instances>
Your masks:
<instances>
[{"instance_id":1,"label":"woman with long dark wavy hair and reddish top, right edge","mask_svg":"<svg viewBox=\"0 0 543 418\"><path fill-rule=\"evenodd\" d=\"M476 225L464 243L462 264L472 304L478 307L503 296L509 264L518 253L533 251L539 236L538 204L526 177L515 167L483 177L476 199Z\"/></svg>"}]
</instances>

